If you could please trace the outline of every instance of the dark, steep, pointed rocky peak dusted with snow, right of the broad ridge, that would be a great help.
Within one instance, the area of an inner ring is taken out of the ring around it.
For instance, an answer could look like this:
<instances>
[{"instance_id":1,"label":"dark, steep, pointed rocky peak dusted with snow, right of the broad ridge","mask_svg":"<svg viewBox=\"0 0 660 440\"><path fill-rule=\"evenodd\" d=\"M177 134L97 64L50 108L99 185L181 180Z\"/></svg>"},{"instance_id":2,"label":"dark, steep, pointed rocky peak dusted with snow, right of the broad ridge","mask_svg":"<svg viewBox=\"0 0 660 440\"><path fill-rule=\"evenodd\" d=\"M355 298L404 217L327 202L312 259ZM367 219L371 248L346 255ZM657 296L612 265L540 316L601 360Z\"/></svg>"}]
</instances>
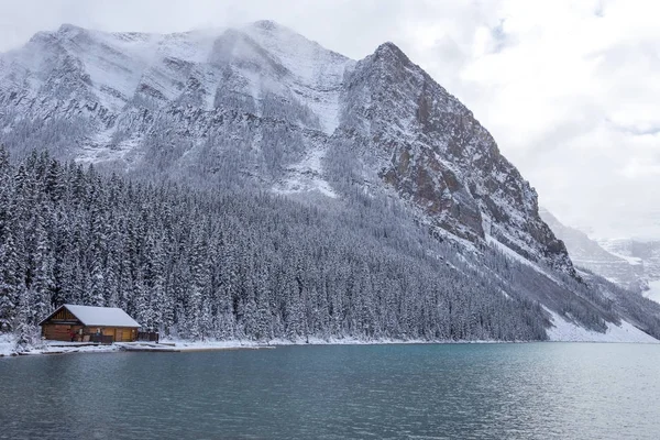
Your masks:
<instances>
[{"instance_id":1,"label":"dark, steep, pointed rocky peak dusted with snow, right of the broad ridge","mask_svg":"<svg viewBox=\"0 0 660 440\"><path fill-rule=\"evenodd\" d=\"M458 99L394 44L346 76L340 128L360 133L380 176L451 233L491 235L518 254L568 273L563 243L538 215L537 194Z\"/></svg>"}]
</instances>

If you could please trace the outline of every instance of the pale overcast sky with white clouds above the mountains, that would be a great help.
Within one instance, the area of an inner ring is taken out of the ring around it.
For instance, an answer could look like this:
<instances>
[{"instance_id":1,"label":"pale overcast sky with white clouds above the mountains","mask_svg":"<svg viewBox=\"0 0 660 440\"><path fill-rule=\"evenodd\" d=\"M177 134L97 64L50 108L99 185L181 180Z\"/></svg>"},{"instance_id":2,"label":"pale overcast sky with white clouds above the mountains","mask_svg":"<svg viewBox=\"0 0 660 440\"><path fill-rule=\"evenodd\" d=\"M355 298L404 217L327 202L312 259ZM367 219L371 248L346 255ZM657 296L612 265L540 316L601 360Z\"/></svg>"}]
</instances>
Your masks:
<instances>
[{"instance_id":1,"label":"pale overcast sky with white clouds above the mountains","mask_svg":"<svg viewBox=\"0 0 660 440\"><path fill-rule=\"evenodd\" d=\"M656 0L1 0L0 51L62 23L271 19L356 59L392 41L473 110L564 223L660 238L659 13Z\"/></svg>"}]
</instances>

